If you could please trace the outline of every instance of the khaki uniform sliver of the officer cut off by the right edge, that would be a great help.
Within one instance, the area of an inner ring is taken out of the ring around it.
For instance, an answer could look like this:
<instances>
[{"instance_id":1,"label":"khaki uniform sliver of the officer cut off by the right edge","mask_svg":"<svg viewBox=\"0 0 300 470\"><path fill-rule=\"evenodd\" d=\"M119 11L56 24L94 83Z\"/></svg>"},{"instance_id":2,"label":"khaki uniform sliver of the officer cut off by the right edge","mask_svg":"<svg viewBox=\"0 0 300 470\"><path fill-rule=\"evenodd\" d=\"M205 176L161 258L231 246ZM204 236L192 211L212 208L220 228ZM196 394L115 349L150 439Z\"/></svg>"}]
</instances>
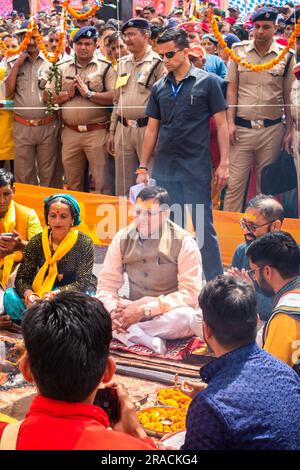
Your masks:
<instances>
[{"instance_id":1,"label":"khaki uniform sliver of the officer cut off by the right edge","mask_svg":"<svg viewBox=\"0 0 300 470\"><path fill-rule=\"evenodd\" d=\"M300 81L295 80L291 91L291 112L293 118L293 154L297 170L298 217L300 217Z\"/></svg>"}]
</instances>

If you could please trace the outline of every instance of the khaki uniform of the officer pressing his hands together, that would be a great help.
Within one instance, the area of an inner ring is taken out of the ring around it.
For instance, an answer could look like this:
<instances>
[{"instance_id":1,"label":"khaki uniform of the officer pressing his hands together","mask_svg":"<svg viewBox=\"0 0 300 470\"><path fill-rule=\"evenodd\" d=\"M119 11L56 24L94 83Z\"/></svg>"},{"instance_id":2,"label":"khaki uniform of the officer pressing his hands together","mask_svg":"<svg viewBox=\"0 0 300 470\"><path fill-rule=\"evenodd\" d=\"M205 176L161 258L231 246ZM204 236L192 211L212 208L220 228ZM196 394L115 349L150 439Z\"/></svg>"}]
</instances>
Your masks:
<instances>
[{"instance_id":1,"label":"khaki uniform of the officer pressing his hands together","mask_svg":"<svg viewBox=\"0 0 300 470\"><path fill-rule=\"evenodd\" d=\"M62 91L70 90L77 74L91 91L101 93L114 90L113 67L95 55L85 67L75 64L75 58L72 58L60 66L60 72ZM75 95L62 105L62 161L69 189L83 191L87 159L95 179L96 192L112 194L107 152L109 120L109 107L100 106L82 96Z\"/></svg>"}]
</instances>

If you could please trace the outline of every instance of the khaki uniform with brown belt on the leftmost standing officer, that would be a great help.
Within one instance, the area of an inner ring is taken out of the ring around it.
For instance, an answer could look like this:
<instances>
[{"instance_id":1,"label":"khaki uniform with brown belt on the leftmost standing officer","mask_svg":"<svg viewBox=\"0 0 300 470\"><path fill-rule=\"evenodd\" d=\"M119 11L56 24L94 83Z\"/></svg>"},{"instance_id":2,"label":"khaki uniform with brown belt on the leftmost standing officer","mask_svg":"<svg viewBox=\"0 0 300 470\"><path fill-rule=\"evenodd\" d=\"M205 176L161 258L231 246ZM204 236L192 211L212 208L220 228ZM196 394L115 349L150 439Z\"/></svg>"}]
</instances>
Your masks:
<instances>
[{"instance_id":1,"label":"khaki uniform with brown belt on the leftmost standing officer","mask_svg":"<svg viewBox=\"0 0 300 470\"><path fill-rule=\"evenodd\" d=\"M11 68L16 58L8 65ZM48 64L40 53L19 68L14 93L14 174L18 183L51 186L57 161L59 123L45 114L43 75Z\"/></svg>"}]
</instances>

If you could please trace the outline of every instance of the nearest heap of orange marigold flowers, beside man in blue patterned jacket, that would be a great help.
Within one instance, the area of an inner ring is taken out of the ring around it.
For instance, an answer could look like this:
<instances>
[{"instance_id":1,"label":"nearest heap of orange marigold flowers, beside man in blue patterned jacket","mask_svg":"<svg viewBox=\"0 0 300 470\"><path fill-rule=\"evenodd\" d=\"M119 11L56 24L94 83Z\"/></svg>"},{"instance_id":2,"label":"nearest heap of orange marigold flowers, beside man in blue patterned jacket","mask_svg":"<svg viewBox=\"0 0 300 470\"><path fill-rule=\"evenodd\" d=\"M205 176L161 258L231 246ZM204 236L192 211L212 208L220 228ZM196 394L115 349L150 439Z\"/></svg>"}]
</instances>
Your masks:
<instances>
[{"instance_id":1,"label":"nearest heap of orange marigold flowers, beside man in blue patterned jacket","mask_svg":"<svg viewBox=\"0 0 300 470\"><path fill-rule=\"evenodd\" d=\"M169 432L185 430L186 411L180 408L153 406L138 412L147 434L162 437Z\"/></svg>"}]
</instances>

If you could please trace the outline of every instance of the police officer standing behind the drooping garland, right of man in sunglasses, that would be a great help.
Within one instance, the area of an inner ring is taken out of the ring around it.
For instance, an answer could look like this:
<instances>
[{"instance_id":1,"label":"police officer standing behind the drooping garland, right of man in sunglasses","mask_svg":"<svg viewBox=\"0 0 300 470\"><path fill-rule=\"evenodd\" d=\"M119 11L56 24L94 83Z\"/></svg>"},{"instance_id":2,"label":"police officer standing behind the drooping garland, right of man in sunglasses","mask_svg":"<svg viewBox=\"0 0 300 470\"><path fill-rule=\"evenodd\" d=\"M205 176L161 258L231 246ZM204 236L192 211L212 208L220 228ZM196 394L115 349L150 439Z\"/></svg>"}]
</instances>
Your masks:
<instances>
[{"instance_id":1,"label":"police officer standing behind the drooping garland, right of man in sunglasses","mask_svg":"<svg viewBox=\"0 0 300 470\"><path fill-rule=\"evenodd\" d=\"M252 64L264 64L278 57L283 46L274 40L276 18L277 10L259 8L252 17L254 40L234 44L234 52ZM263 72L254 72L229 61L226 80L229 82L231 149L226 211L242 211L253 161L256 164L256 192L259 193L262 169L277 160L283 139L286 147L291 139L290 93L294 64L292 51L275 67ZM283 113L286 128L282 122Z\"/></svg>"}]
</instances>

